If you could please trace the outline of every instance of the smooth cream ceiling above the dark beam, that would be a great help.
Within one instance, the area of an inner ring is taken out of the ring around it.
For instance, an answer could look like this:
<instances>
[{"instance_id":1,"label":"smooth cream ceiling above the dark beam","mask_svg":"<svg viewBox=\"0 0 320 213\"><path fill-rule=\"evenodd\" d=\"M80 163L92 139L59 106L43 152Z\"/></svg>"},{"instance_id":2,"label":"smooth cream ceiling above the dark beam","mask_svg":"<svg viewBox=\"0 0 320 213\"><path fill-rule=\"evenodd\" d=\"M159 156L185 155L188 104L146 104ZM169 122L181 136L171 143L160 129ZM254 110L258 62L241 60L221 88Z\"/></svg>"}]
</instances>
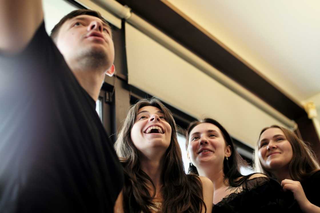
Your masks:
<instances>
[{"instance_id":1,"label":"smooth cream ceiling above the dark beam","mask_svg":"<svg viewBox=\"0 0 320 213\"><path fill-rule=\"evenodd\" d=\"M320 107L320 1L167 1L292 99Z\"/></svg>"}]
</instances>

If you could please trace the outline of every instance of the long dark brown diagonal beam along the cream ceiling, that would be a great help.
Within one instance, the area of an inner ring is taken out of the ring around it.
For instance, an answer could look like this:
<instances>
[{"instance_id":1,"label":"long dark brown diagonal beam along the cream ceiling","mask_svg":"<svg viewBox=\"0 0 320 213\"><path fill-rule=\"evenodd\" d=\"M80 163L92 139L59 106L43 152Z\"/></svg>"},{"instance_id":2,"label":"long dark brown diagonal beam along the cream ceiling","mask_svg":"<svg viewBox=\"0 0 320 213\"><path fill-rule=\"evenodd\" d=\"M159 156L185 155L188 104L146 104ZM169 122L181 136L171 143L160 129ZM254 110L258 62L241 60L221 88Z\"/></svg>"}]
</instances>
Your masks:
<instances>
[{"instance_id":1,"label":"long dark brown diagonal beam along the cream ceiling","mask_svg":"<svg viewBox=\"0 0 320 213\"><path fill-rule=\"evenodd\" d=\"M193 51L223 74L227 75L270 106L292 120L307 116L303 108L280 91L271 82L254 71L213 36L170 5L157 0L117 0L163 31L174 40Z\"/></svg>"}]
</instances>

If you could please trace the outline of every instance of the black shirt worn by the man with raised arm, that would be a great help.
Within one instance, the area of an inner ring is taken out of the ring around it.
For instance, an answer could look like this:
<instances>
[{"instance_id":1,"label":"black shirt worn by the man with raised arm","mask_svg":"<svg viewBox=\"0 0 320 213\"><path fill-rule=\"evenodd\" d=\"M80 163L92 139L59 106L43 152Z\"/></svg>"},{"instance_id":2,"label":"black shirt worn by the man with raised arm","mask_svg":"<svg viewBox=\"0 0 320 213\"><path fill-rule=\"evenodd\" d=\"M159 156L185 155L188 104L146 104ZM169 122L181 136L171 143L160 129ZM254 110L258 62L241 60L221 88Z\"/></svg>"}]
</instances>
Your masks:
<instances>
[{"instance_id":1,"label":"black shirt worn by the man with raised arm","mask_svg":"<svg viewBox=\"0 0 320 213\"><path fill-rule=\"evenodd\" d=\"M42 23L0 55L0 212L112 212L123 181L95 101Z\"/></svg>"}]
</instances>

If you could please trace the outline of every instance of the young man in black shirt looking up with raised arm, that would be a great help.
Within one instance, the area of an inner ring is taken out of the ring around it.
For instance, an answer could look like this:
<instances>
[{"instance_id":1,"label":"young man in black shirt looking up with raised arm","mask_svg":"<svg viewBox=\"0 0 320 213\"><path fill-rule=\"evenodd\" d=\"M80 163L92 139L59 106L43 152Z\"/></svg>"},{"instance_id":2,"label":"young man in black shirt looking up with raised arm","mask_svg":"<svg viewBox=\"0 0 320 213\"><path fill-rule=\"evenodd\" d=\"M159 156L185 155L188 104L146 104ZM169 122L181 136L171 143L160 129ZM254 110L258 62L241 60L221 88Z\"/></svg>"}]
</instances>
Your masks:
<instances>
[{"instance_id":1,"label":"young man in black shirt looking up with raised arm","mask_svg":"<svg viewBox=\"0 0 320 213\"><path fill-rule=\"evenodd\" d=\"M99 13L46 34L40 0L0 0L0 212L112 212L122 167L95 111L114 46Z\"/></svg>"}]
</instances>

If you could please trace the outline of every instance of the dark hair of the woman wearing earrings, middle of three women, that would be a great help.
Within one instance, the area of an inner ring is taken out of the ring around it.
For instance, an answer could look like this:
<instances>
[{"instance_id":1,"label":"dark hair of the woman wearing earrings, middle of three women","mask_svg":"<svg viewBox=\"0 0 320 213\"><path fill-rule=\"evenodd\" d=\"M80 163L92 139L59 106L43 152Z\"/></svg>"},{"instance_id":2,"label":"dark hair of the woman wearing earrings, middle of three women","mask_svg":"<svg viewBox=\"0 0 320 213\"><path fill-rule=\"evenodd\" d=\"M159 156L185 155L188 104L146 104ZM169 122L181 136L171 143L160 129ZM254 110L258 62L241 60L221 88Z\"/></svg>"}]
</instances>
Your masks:
<instances>
[{"instance_id":1,"label":"dark hair of the woman wearing earrings, middle of three women","mask_svg":"<svg viewBox=\"0 0 320 213\"><path fill-rule=\"evenodd\" d=\"M217 122L212 118L204 118L201 121L191 122L187 129L186 149L188 150L189 136L190 136L191 130L193 130L193 128L195 128L197 125L201 123L212 123L213 125L217 126L220 129L222 136L224 138L224 141L226 142L226 145L230 146L230 149L231 149L231 155L230 157L228 157L228 160L226 158L223 160L224 181L232 187L239 186L242 183L242 179L241 178L239 179L239 177L243 176L240 173L240 166L248 167L248 164L236 151L236 148L233 145L232 138L230 137L227 130L219 122ZM189 165L188 173L199 175L197 168L191 164Z\"/></svg>"}]
</instances>

